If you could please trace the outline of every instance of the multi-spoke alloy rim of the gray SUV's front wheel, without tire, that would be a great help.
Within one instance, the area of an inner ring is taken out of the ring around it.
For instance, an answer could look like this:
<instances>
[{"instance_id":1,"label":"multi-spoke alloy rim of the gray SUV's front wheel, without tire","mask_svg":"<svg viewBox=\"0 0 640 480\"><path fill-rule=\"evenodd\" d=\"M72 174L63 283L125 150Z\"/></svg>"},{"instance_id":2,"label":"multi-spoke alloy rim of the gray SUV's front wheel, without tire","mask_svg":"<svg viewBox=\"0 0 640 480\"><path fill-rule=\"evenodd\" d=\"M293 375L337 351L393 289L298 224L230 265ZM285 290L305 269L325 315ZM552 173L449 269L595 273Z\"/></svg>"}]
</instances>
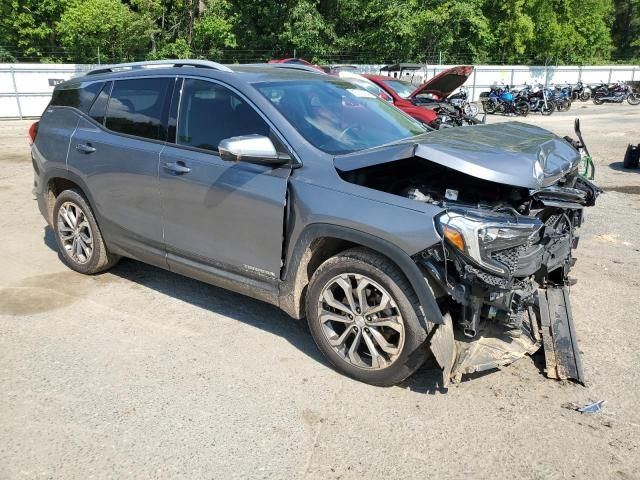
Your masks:
<instances>
[{"instance_id":1,"label":"multi-spoke alloy rim of the gray SUV's front wheel, without tire","mask_svg":"<svg viewBox=\"0 0 640 480\"><path fill-rule=\"evenodd\" d=\"M404 347L404 320L395 300L365 275L344 273L327 282L318 321L331 348L358 368L386 368Z\"/></svg>"}]
</instances>

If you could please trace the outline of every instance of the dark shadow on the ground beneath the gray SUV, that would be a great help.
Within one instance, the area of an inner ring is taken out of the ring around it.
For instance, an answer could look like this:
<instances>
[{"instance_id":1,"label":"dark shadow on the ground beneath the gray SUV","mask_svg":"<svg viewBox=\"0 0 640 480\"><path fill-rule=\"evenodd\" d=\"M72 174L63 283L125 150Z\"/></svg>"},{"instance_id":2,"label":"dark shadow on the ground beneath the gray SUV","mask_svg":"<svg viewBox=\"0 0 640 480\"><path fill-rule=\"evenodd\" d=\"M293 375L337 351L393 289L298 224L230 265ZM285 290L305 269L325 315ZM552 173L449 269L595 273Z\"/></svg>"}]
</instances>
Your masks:
<instances>
[{"instance_id":1,"label":"dark shadow on the ground beneath the gray SUV","mask_svg":"<svg viewBox=\"0 0 640 480\"><path fill-rule=\"evenodd\" d=\"M44 243L58 253L58 258L62 261L54 235L51 227L46 226ZM273 305L128 258L123 258L115 267L101 275L115 275L168 297L278 335L323 367L332 368L313 341L306 321L294 320ZM417 393L446 393L447 389L439 386L441 378L435 361L428 360L399 387Z\"/></svg>"}]
</instances>

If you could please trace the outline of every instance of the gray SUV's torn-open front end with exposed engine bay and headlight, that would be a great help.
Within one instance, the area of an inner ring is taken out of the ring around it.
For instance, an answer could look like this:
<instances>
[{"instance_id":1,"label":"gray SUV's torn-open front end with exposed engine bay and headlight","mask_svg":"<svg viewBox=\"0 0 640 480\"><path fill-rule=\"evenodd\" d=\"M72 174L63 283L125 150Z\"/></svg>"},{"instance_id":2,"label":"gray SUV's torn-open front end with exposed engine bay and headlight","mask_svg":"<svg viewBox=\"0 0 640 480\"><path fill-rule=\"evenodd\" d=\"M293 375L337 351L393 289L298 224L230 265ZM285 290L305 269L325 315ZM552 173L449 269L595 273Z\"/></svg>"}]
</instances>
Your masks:
<instances>
[{"instance_id":1,"label":"gray SUV's torn-open front end with exposed engine bay and headlight","mask_svg":"<svg viewBox=\"0 0 640 480\"><path fill-rule=\"evenodd\" d=\"M431 342L445 384L541 346L549 377L584 382L569 271L583 208L595 203L600 190L577 168L537 189L477 178L417 156L340 175L444 209L435 220L442 242L414 260L445 317Z\"/></svg>"}]
</instances>

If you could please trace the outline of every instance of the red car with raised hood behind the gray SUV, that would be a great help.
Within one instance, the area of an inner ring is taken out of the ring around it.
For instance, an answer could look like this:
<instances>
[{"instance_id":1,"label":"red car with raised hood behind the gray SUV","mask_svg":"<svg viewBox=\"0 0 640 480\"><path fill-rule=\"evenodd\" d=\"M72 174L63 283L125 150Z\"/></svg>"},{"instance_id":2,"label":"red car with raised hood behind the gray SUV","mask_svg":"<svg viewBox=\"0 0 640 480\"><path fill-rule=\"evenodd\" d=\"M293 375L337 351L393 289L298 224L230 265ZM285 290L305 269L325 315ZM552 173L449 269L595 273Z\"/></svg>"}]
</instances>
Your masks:
<instances>
[{"instance_id":1,"label":"red car with raised hood behind the gray SUV","mask_svg":"<svg viewBox=\"0 0 640 480\"><path fill-rule=\"evenodd\" d=\"M431 125L438 118L438 114L429 108L416 105L416 97L428 96L434 100L444 100L451 92L464 84L471 73L473 73L473 67L470 65L449 68L418 88L398 78L368 74L363 77L368 78L391 95L393 104L400 110L422 123Z\"/></svg>"}]
</instances>

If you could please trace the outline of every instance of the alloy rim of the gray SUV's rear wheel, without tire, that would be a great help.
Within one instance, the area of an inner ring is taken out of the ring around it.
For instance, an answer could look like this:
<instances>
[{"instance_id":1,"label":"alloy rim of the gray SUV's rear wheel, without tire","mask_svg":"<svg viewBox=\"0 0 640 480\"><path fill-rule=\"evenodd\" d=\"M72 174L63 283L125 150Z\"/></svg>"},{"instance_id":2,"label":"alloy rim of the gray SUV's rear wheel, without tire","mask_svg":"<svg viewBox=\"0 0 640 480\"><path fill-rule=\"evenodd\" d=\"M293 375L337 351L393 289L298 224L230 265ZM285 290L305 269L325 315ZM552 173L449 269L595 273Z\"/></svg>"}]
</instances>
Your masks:
<instances>
[{"instance_id":1,"label":"alloy rim of the gray SUV's rear wheel, without tire","mask_svg":"<svg viewBox=\"0 0 640 480\"><path fill-rule=\"evenodd\" d=\"M67 255L85 264L93 255L93 232L84 211L73 202L65 202L58 210L58 236Z\"/></svg>"}]
</instances>

